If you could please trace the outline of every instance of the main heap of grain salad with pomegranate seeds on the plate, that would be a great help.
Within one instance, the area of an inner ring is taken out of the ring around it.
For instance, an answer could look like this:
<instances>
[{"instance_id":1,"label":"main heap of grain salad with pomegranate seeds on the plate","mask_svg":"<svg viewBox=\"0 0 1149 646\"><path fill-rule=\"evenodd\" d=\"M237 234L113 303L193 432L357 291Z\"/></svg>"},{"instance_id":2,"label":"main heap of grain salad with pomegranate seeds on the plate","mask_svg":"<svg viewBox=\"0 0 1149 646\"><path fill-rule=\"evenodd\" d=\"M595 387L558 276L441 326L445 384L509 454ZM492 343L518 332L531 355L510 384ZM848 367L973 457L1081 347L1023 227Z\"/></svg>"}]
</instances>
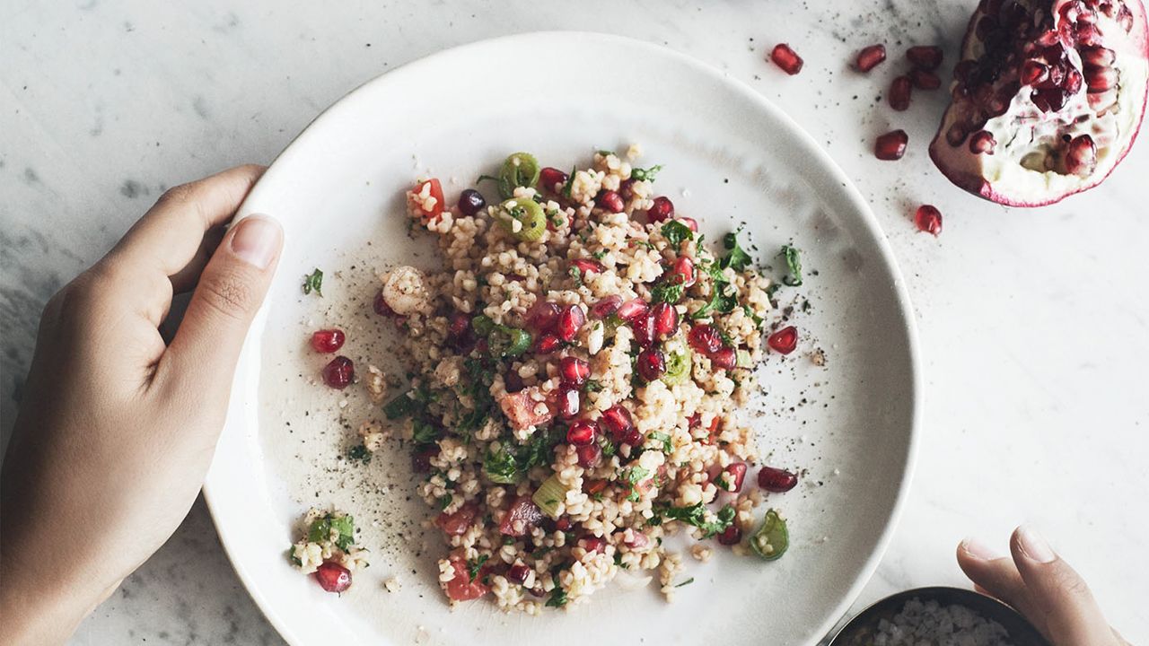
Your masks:
<instances>
[{"instance_id":1,"label":"main heap of grain salad with pomegranate seeds on the plate","mask_svg":"<svg viewBox=\"0 0 1149 646\"><path fill-rule=\"evenodd\" d=\"M480 179L489 203L466 189L448 206L435 178L407 192L412 234L434 237L442 266L379 269L375 309L409 364L376 357L386 402L360 449L411 451L452 603L535 614L623 572L670 600L692 580L684 553L707 561L711 540L768 561L787 549L786 518L759 506L797 478L761 466L743 483L759 456L737 409L797 331L745 236L708 244L637 155L600 151L566 172L515 153ZM801 284L797 251L782 257ZM340 359L324 371L334 387L354 375Z\"/></svg>"}]
</instances>

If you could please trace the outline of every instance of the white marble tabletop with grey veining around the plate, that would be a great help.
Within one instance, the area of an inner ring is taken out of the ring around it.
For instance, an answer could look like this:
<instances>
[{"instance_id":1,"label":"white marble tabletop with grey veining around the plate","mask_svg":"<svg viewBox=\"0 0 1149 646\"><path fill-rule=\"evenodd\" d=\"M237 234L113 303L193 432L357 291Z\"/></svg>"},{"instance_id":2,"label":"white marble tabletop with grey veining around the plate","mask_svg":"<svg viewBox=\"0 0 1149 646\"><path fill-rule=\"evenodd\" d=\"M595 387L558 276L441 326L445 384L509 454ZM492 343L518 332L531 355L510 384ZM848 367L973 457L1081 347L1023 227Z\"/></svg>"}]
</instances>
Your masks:
<instances>
[{"instance_id":1,"label":"white marble tabletop with grey veining around the plate","mask_svg":"<svg viewBox=\"0 0 1149 646\"><path fill-rule=\"evenodd\" d=\"M919 2L339 2L146 0L0 3L0 344L7 438L36 321L171 184L268 162L363 80L425 54L541 29L665 44L749 83L813 133L870 198L907 276L926 370L924 443L902 522L859 603L963 584L966 533L1002 545L1044 529L1113 624L1149 641L1149 222L1141 141L1100 189L1018 210L950 186L925 144L944 102L876 98L851 53L940 43L947 69L973 0ZM788 78L763 62L789 41ZM657 79L649 79L657 83ZM897 164L874 134L904 128ZM1140 179L1139 179L1140 178ZM917 233L921 201L946 216ZM279 644L232 572L202 503L79 629L75 644Z\"/></svg>"}]
</instances>

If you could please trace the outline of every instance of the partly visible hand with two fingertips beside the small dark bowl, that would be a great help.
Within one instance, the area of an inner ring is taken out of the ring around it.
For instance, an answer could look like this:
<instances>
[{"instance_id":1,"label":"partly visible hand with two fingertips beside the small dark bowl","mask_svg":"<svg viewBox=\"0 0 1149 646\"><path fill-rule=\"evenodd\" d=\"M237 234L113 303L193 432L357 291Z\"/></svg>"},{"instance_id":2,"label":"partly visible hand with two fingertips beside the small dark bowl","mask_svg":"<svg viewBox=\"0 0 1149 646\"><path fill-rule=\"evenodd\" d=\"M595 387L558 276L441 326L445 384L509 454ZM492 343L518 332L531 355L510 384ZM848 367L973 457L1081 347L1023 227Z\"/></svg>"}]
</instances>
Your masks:
<instances>
[{"instance_id":1,"label":"partly visible hand with two fingertips beside the small dark bowl","mask_svg":"<svg viewBox=\"0 0 1149 646\"><path fill-rule=\"evenodd\" d=\"M957 564L979 592L1012 606L1054 646L1128 646L1109 626L1089 586L1041 535L1017 528L1010 552L1012 560L967 538L957 547Z\"/></svg>"}]
</instances>

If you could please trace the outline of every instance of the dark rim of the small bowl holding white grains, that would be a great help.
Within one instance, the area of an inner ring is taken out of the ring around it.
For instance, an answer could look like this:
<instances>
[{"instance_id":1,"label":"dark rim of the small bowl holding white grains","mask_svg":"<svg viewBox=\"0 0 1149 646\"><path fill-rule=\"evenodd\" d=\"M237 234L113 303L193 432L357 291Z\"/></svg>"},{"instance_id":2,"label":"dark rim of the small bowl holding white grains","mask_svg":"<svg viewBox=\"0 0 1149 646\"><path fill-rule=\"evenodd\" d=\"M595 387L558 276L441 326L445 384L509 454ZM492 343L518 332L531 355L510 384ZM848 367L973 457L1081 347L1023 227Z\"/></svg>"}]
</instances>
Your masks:
<instances>
[{"instance_id":1,"label":"dark rim of the small bowl holding white grains","mask_svg":"<svg viewBox=\"0 0 1149 646\"><path fill-rule=\"evenodd\" d=\"M892 594L862 610L838 631L830 646L870 646L879 620L893 620L907 601L936 601L939 606L964 606L987 620L993 620L1009 633L1017 646L1049 646L1046 638L1025 617L1005 603L961 587L917 587Z\"/></svg>"}]
</instances>

